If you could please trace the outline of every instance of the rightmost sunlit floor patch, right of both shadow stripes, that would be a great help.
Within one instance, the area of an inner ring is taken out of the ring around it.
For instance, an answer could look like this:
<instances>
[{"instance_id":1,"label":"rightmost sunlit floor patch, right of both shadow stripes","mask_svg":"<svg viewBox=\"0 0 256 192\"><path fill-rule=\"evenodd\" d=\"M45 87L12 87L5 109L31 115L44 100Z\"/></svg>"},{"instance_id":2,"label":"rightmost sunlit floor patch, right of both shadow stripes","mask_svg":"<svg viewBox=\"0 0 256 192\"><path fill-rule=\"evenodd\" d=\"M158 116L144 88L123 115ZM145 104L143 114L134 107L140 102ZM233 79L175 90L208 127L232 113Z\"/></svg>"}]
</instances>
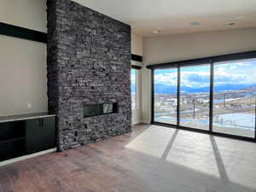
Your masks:
<instances>
[{"instance_id":1,"label":"rightmost sunlit floor patch, right of both shadow stripes","mask_svg":"<svg viewBox=\"0 0 256 192\"><path fill-rule=\"evenodd\" d=\"M256 145L223 137L215 137L219 154L229 180L256 191ZM255 153L252 153L252 152Z\"/></svg>"}]
</instances>

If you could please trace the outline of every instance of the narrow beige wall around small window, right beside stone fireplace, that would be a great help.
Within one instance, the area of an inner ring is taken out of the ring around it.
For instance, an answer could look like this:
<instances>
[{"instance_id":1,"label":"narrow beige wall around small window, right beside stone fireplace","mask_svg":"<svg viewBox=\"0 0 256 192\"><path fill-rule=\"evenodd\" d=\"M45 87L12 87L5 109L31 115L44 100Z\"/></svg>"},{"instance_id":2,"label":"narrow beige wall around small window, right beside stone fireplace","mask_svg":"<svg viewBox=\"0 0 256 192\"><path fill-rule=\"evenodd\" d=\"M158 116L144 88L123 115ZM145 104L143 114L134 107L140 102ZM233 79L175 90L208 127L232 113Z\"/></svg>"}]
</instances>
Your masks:
<instances>
[{"instance_id":1,"label":"narrow beige wall around small window, right beside stone fireplace","mask_svg":"<svg viewBox=\"0 0 256 192\"><path fill-rule=\"evenodd\" d=\"M143 55L143 38L137 34L131 33L131 53L135 55ZM143 66L143 63L131 61L132 65ZM142 122L142 70L137 73L138 92L137 92L137 110L132 110L131 122L133 125Z\"/></svg>"}]
</instances>

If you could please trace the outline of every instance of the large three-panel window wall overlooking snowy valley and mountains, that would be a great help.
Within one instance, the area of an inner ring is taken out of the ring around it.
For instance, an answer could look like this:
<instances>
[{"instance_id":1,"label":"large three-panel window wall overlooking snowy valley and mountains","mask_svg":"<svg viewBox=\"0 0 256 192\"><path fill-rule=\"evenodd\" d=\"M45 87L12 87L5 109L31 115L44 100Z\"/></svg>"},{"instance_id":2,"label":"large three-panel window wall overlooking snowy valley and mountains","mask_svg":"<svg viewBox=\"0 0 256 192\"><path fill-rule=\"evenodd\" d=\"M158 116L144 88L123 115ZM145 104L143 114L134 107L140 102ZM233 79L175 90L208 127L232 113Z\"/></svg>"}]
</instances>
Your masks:
<instances>
[{"instance_id":1,"label":"large three-panel window wall overlooking snowy valley and mountains","mask_svg":"<svg viewBox=\"0 0 256 192\"><path fill-rule=\"evenodd\" d=\"M256 59L202 60L152 67L153 122L256 139Z\"/></svg>"}]
</instances>

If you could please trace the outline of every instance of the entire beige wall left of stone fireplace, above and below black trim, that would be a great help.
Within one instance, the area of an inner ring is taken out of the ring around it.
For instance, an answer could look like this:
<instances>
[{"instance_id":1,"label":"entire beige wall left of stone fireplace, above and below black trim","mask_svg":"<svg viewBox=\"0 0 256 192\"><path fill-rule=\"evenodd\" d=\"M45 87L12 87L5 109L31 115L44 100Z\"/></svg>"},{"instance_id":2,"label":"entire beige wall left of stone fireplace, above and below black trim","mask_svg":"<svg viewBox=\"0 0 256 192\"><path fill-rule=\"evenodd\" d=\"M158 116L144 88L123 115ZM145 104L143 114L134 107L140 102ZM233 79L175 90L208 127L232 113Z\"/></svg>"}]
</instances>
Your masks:
<instances>
[{"instance_id":1,"label":"entire beige wall left of stone fireplace, above and below black trim","mask_svg":"<svg viewBox=\"0 0 256 192\"><path fill-rule=\"evenodd\" d=\"M1 22L46 32L46 20L46 0L1 0ZM46 44L0 35L0 53L0 116L46 112Z\"/></svg>"}]
</instances>

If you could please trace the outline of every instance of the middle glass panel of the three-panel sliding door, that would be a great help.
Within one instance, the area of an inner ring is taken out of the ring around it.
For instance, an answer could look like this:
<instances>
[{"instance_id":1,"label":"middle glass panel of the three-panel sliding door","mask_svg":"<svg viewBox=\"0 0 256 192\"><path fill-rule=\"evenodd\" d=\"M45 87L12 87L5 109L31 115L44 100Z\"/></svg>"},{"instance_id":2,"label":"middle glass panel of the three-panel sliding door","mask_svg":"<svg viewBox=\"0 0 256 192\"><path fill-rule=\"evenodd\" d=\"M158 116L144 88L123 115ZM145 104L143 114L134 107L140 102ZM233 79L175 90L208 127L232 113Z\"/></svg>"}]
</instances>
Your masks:
<instances>
[{"instance_id":1,"label":"middle glass panel of the three-panel sliding door","mask_svg":"<svg viewBox=\"0 0 256 192\"><path fill-rule=\"evenodd\" d=\"M210 65L180 68L179 125L209 130Z\"/></svg>"}]
</instances>

